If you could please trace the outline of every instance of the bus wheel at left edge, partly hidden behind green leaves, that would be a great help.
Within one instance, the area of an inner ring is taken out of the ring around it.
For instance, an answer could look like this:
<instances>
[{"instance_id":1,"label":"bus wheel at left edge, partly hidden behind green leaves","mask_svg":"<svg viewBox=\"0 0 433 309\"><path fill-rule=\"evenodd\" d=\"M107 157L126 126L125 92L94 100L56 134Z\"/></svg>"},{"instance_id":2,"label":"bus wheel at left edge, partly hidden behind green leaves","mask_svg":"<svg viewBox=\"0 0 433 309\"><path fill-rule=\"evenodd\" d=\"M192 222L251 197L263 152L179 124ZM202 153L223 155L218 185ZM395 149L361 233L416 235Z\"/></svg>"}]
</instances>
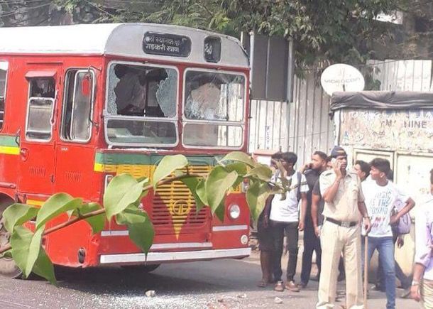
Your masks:
<instances>
[{"instance_id":1,"label":"bus wheel at left edge, partly hidden behind green leaves","mask_svg":"<svg viewBox=\"0 0 433 309\"><path fill-rule=\"evenodd\" d=\"M10 197L0 197L0 248L9 243L11 235L6 231L3 224L3 212L9 205L12 205L14 201ZM16 266L15 261L9 257L3 257L0 259L0 275L9 278L21 278L21 269Z\"/></svg>"}]
</instances>

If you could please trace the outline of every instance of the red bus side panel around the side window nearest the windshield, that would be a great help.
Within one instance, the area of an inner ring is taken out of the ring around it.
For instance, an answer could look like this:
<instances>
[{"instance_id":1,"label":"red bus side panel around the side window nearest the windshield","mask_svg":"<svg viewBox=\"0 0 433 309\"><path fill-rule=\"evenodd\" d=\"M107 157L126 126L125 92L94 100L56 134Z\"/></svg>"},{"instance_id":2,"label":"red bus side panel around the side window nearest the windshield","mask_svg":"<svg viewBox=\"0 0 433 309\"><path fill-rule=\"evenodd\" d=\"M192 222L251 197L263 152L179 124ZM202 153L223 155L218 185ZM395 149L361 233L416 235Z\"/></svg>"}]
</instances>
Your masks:
<instances>
[{"instance_id":1,"label":"red bus side panel around the side window nearest the windshield","mask_svg":"<svg viewBox=\"0 0 433 309\"><path fill-rule=\"evenodd\" d=\"M96 148L106 148L103 135L102 109L104 107L104 59L102 57L77 56L63 59L64 75L70 69L92 67L96 82L92 114L92 133L87 143L77 143L62 139L61 124L64 98L59 98L57 110L57 146L55 193L68 193L72 197L82 197L84 202L98 202L102 205L104 177L95 173ZM62 77L65 80L65 76ZM63 85L65 87L65 85ZM67 216L53 219L49 224L54 226L65 222ZM92 228L85 222L77 222L61 231L48 236L48 255L54 264L63 266L96 266L99 248L99 234L92 234Z\"/></svg>"}]
</instances>

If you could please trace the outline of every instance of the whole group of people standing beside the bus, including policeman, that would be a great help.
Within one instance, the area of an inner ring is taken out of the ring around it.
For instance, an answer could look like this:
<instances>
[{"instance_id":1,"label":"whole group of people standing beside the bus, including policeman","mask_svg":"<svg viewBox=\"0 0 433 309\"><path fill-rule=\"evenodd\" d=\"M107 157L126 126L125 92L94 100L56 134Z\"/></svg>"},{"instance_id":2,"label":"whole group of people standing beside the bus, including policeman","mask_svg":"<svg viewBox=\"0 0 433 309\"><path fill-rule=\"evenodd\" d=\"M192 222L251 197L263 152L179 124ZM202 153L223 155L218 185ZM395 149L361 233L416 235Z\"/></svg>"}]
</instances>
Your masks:
<instances>
[{"instance_id":1,"label":"whole group of people standing beside the bus, including policeman","mask_svg":"<svg viewBox=\"0 0 433 309\"><path fill-rule=\"evenodd\" d=\"M386 308L395 308L396 277L405 289L401 297L422 300L433 308L433 170L432 198L420 208L416 220L416 253L413 280L395 261L395 244L410 233L410 210L415 201L393 183L390 162L374 158L356 161L348 168L344 148L329 156L312 154L311 162L295 170L297 156L275 153L272 183L287 180L287 193L270 195L258 219L262 279L258 286L275 291L300 292L310 280L319 281L316 308L336 308L337 281L346 280L346 303L341 308L364 308L364 265L378 251L376 290L385 291ZM298 240L303 231L302 269L295 281ZM285 281L281 269L283 239L288 251ZM317 276L311 278L315 252ZM366 261L367 259L367 261ZM367 273L366 269L366 273Z\"/></svg>"}]
</instances>

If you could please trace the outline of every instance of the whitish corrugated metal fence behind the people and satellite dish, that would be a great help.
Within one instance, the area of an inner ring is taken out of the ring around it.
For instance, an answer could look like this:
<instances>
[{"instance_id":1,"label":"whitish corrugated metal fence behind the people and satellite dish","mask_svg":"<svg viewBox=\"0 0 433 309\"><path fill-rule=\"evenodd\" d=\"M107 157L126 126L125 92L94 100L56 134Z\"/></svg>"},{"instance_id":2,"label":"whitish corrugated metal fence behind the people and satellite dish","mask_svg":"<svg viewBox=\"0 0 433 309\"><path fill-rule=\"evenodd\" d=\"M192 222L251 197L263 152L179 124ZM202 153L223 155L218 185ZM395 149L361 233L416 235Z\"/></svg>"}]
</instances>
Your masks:
<instances>
[{"instance_id":1,"label":"whitish corrugated metal fence behind the people and satellite dish","mask_svg":"<svg viewBox=\"0 0 433 309\"><path fill-rule=\"evenodd\" d=\"M366 71L380 82L379 90L433 91L431 60L371 60L368 67L361 67L361 72ZM291 103L251 102L250 152L293 151L300 166L314 151L331 150L335 135L328 115L330 97L314 72L306 72L305 79L295 77Z\"/></svg>"}]
</instances>

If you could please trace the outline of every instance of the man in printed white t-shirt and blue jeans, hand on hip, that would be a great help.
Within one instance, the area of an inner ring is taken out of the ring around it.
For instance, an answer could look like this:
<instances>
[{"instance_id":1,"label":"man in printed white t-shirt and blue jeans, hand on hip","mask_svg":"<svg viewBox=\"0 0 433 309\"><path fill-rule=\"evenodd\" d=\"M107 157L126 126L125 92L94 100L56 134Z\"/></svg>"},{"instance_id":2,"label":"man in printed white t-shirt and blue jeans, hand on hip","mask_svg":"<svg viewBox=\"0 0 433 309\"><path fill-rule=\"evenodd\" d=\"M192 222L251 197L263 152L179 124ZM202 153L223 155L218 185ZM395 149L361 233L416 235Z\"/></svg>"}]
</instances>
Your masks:
<instances>
[{"instance_id":1,"label":"man in printed white t-shirt and blue jeans, hand on hip","mask_svg":"<svg viewBox=\"0 0 433 309\"><path fill-rule=\"evenodd\" d=\"M373 252L378 250L380 264L385 278L386 308L395 308L395 264L394 242L391 225L398 223L400 217L409 212L415 202L402 193L386 175L390 173L390 162L375 158L370 163L371 180L362 183L368 214L371 216L371 231L368 233L368 261ZM395 215L393 209L397 202L405 204ZM365 237L365 231L362 232ZM363 244L364 242L362 242ZM364 250L365 248L363 248ZM362 255L364 256L364 255Z\"/></svg>"}]
</instances>

